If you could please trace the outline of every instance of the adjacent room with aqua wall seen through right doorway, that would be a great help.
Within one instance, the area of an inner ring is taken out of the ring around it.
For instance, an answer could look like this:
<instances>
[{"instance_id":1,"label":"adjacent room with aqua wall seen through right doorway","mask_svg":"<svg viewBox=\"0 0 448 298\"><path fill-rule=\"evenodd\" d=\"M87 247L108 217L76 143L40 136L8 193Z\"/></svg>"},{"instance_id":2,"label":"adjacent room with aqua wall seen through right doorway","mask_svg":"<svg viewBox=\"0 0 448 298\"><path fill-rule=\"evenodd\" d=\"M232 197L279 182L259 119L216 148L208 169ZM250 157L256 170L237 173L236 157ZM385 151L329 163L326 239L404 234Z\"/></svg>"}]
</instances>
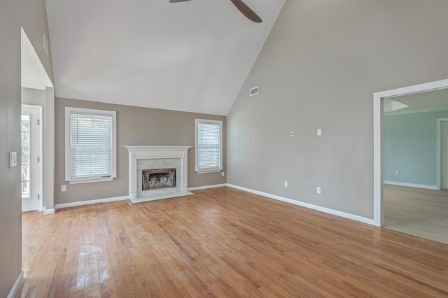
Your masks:
<instances>
[{"instance_id":1,"label":"adjacent room with aqua wall seen through right doorway","mask_svg":"<svg viewBox=\"0 0 448 298\"><path fill-rule=\"evenodd\" d=\"M384 227L448 244L448 89L384 99Z\"/></svg>"}]
</instances>

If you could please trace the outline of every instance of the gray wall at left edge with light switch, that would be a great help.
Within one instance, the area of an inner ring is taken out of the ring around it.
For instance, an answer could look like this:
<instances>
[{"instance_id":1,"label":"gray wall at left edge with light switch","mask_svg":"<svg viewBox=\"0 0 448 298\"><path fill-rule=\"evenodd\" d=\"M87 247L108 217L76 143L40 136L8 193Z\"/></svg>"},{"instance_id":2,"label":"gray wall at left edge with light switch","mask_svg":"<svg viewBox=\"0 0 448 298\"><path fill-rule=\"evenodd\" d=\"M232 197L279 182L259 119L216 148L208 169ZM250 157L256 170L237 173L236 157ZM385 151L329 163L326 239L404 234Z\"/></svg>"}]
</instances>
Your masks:
<instances>
[{"instance_id":1,"label":"gray wall at left edge with light switch","mask_svg":"<svg viewBox=\"0 0 448 298\"><path fill-rule=\"evenodd\" d=\"M18 152L20 161L20 26L52 78L42 49L45 1L0 1L0 297L7 297L22 270L20 166L8 166L8 152Z\"/></svg>"}]
</instances>

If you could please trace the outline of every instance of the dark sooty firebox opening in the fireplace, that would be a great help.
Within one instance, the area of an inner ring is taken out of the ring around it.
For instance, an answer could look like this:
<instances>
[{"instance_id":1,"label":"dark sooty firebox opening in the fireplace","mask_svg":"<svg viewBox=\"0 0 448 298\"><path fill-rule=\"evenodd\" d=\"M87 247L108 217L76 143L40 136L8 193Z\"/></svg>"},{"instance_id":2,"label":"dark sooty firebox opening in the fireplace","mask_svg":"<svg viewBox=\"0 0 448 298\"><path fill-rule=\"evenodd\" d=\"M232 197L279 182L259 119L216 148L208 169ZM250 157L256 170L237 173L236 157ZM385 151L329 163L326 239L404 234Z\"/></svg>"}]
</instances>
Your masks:
<instances>
[{"instance_id":1,"label":"dark sooty firebox opening in the fireplace","mask_svg":"<svg viewBox=\"0 0 448 298\"><path fill-rule=\"evenodd\" d=\"M142 191L176 187L176 169L143 170L142 174Z\"/></svg>"}]
</instances>

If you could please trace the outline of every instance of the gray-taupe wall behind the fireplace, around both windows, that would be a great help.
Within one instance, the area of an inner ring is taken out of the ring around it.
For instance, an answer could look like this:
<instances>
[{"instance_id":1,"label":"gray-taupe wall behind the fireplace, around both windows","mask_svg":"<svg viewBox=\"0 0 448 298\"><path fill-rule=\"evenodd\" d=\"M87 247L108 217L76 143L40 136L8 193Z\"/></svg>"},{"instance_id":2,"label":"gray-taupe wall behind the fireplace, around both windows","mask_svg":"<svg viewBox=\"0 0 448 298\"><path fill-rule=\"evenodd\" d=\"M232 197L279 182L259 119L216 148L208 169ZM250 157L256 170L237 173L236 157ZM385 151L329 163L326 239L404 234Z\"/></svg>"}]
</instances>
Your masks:
<instances>
[{"instance_id":1,"label":"gray-taupe wall behind the fireplace, around both windows","mask_svg":"<svg viewBox=\"0 0 448 298\"><path fill-rule=\"evenodd\" d=\"M111 182L72 184L65 182L66 106L117 111L117 175ZM195 118L223 121L223 167L226 164L225 117L139 108L93 101L55 99L56 171L55 204L122 197L129 194L128 151L125 146L192 146L188 150L188 187L226 183L221 173L195 173ZM66 185L66 192L61 192Z\"/></svg>"}]
</instances>

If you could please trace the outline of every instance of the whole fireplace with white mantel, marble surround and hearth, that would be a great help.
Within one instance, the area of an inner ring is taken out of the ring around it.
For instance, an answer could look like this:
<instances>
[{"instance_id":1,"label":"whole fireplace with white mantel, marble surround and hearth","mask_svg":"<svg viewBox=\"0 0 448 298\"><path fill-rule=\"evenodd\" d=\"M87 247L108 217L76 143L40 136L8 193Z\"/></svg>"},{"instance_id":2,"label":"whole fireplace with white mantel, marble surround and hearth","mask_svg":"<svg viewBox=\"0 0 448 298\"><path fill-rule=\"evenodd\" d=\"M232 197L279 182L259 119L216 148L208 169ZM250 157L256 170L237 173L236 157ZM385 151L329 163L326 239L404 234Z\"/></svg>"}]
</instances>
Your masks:
<instances>
[{"instance_id":1,"label":"whole fireplace with white mantel, marble surround and hearth","mask_svg":"<svg viewBox=\"0 0 448 298\"><path fill-rule=\"evenodd\" d=\"M132 203L188 194L190 146L126 146Z\"/></svg>"}]
</instances>

